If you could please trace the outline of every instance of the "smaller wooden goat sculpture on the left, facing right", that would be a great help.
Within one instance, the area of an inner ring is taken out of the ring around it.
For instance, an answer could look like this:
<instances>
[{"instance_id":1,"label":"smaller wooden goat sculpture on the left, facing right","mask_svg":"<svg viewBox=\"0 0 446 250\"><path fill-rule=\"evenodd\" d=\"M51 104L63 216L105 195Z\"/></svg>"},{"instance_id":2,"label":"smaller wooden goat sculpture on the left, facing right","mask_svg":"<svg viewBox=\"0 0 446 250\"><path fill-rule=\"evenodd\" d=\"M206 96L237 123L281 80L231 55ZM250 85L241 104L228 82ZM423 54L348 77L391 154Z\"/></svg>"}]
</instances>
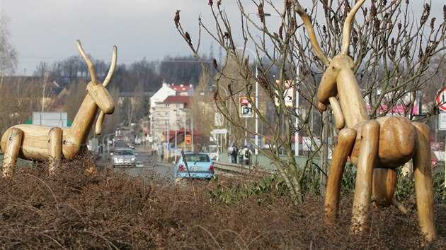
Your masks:
<instances>
[{"instance_id":1,"label":"smaller wooden goat sculpture on the left, facing right","mask_svg":"<svg viewBox=\"0 0 446 250\"><path fill-rule=\"evenodd\" d=\"M50 172L60 165L62 159L72 159L86 150L88 133L93 126L94 119L101 109L96 121L96 134L101 133L105 114L112 114L115 110L113 99L106 89L116 67L117 48L113 47L113 58L105 77L104 83L96 80L96 71L90 59L82 49L81 42L77 42L77 49L84 58L90 72L91 81L86 88L86 97L70 127L50 127L21 124L7 129L1 137L0 147L4 152L3 175L11 177L16 165L17 157L27 160L50 160Z\"/></svg>"}]
</instances>

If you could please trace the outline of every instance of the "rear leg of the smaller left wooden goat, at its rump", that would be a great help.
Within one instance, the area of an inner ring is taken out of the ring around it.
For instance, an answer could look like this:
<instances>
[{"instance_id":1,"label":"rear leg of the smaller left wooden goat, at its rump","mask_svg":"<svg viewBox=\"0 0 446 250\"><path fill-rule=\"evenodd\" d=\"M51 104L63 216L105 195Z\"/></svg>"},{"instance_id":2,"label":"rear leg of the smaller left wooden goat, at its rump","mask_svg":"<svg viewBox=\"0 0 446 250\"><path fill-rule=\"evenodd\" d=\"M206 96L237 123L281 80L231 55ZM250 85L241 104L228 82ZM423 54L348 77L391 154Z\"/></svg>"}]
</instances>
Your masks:
<instances>
[{"instance_id":1,"label":"rear leg of the smaller left wooden goat, at its rump","mask_svg":"<svg viewBox=\"0 0 446 250\"><path fill-rule=\"evenodd\" d=\"M14 167L16 166L18 151L20 150L23 131L12 128L6 141L3 158L3 177L12 177Z\"/></svg>"}]
</instances>

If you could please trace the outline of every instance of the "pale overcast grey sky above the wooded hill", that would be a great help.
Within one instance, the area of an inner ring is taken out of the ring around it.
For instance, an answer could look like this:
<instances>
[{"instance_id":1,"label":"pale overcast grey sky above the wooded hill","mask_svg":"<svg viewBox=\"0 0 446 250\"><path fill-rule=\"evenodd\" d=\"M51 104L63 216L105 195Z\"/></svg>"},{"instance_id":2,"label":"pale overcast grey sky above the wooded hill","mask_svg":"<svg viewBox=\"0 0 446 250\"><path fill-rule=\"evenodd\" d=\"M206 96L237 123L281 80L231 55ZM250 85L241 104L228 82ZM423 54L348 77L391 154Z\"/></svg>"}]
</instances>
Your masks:
<instances>
[{"instance_id":1,"label":"pale overcast grey sky above the wooded hill","mask_svg":"<svg viewBox=\"0 0 446 250\"><path fill-rule=\"evenodd\" d=\"M0 0L0 11L8 20L10 41L18 52L18 75L30 76L40 61L52 64L79 54L76 40L95 59L110 61L113 45L118 46L118 64L131 64L164 56L190 55L190 49L176 31L175 11L193 37L198 16L209 17L208 0ZM215 0L217 2L217 0ZM229 15L239 20L235 0L222 0ZM277 2L282 7L282 0ZM300 1L309 6L309 0ZM423 0L411 0L411 3ZM244 1L248 13L256 13L251 0ZM446 0L432 0L432 12L442 20ZM267 10L268 11L268 10ZM267 12L265 11L265 12ZM421 11L421 10L419 10ZM210 20L207 18L207 20ZM234 26L233 26L234 27ZM216 44L215 44L216 45ZM214 46L214 53L217 48ZM202 52L210 53L210 42Z\"/></svg>"}]
</instances>

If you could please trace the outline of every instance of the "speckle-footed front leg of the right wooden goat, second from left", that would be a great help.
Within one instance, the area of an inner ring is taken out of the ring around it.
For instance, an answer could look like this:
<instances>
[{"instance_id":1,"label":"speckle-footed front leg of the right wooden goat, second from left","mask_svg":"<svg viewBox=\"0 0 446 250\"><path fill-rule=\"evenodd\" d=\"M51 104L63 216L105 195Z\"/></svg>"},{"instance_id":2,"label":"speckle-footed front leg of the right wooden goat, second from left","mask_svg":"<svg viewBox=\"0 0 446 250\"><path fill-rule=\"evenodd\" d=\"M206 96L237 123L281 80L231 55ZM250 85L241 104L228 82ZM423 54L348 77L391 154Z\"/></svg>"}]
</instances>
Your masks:
<instances>
[{"instance_id":1,"label":"speckle-footed front leg of the right wooden goat, second from left","mask_svg":"<svg viewBox=\"0 0 446 250\"><path fill-rule=\"evenodd\" d=\"M372 178L374 164L378 155L379 123L367 121L362 126L360 156L356 174L355 198L352 210L350 232L355 234L364 231L367 224L367 213L372 197Z\"/></svg>"}]
</instances>

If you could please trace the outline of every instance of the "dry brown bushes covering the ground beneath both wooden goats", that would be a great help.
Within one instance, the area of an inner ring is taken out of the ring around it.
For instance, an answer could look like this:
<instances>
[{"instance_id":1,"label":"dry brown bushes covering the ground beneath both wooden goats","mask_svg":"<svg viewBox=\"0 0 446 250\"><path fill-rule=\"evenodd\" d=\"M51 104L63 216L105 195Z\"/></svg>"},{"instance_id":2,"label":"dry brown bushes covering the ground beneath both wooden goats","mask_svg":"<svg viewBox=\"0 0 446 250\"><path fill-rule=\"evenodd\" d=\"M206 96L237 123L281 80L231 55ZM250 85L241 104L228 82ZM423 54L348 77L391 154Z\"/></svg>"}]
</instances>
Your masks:
<instances>
[{"instance_id":1,"label":"dry brown bushes covering the ground beneath both wooden goats","mask_svg":"<svg viewBox=\"0 0 446 250\"><path fill-rule=\"evenodd\" d=\"M175 185L156 174L134 178L104 169L84 171L81 160L49 175L45 165L0 179L2 249L446 249L446 206L435 205L439 239L423 242L416 206L371 210L370 230L349 232L350 196L335 225L322 220L323 197L300 206L275 192L229 205L210 202L210 190L248 181L219 177ZM258 199L263 201L258 205Z\"/></svg>"}]
</instances>

